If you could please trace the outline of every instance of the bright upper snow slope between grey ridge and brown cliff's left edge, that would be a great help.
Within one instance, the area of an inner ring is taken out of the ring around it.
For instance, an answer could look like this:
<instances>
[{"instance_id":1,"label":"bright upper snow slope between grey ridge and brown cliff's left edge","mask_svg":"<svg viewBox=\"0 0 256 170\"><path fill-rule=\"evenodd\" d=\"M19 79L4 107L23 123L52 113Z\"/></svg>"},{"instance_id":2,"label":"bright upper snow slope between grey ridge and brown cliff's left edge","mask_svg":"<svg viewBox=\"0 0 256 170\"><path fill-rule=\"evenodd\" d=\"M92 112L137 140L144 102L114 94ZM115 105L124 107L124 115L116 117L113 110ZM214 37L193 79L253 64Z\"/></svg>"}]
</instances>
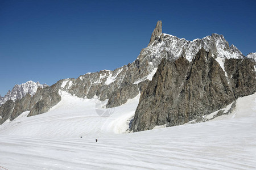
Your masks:
<instances>
[{"instance_id":1,"label":"bright upper snow slope between grey ridge and brown cliff's left edge","mask_svg":"<svg viewBox=\"0 0 256 170\"><path fill-rule=\"evenodd\" d=\"M15 120L3 123L0 133L38 138L97 137L108 133L125 133L129 128L126 121L134 116L139 101L137 96L120 107L106 109L107 100L100 101L97 97L82 99L64 91L60 91L60 94L61 101L47 113L26 117L28 112L24 112Z\"/></svg>"}]
</instances>

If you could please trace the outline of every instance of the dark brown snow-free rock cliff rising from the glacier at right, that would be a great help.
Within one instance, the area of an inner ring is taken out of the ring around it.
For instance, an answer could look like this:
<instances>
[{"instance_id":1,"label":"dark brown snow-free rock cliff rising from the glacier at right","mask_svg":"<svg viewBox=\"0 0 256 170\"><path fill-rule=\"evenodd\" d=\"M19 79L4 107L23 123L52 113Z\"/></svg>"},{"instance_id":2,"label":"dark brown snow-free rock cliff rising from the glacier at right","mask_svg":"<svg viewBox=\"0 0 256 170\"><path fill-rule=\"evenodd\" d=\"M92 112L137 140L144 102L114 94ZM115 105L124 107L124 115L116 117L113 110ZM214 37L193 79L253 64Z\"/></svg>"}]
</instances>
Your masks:
<instances>
[{"instance_id":1,"label":"dark brown snow-free rock cliff rising from the glacier at right","mask_svg":"<svg viewBox=\"0 0 256 170\"><path fill-rule=\"evenodd\" d=\"M192 62L185 57L163 59L142 91L131 130L182 125L224 108L237 97L254 94L254 65L247 58L225 59L223 70L216 55L205 49Z\"/></svg>"}]
</instances>

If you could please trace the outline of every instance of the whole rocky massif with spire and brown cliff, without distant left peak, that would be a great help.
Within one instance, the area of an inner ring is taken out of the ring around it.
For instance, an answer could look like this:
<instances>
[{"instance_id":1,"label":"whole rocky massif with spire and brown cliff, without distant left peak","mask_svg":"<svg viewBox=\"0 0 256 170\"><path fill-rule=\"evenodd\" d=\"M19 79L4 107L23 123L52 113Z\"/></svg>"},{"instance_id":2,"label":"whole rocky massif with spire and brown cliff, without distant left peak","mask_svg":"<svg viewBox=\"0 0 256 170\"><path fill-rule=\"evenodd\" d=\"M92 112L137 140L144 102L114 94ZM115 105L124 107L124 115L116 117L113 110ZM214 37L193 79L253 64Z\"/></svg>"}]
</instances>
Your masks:
<instances>
[{"instance_id":1,"label":"whole rocky massif with spire and brown cliff, without distant left peak","mask_svg":"<svg viewBox=\"0 0 256 170\"><path fill-rule=\"evenodd\" d=\"M16 100L9 97L0 107L0 124L24 111L30 111L28 116L47 112L59 103L63 91L87 99L108 99L106 108L141 94L133 131L184 124L254 93L253 56L246 58L216 33L193 41L162 33L158 21L148 46L134 62L113 71L61 79Z\"/></svg>"}]
</instances>

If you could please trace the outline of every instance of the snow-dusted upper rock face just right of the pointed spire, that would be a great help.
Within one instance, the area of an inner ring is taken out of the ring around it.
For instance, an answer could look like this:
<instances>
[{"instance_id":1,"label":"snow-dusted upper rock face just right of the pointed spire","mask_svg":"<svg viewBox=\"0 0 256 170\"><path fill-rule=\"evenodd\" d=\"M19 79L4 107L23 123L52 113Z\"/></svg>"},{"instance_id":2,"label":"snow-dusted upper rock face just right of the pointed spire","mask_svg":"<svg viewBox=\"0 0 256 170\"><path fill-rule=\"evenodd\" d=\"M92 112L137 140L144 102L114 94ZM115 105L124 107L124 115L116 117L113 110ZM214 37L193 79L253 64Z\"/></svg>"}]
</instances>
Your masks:
<instances>
[{"instance_id":1,"label":"snow-dusted upper rock face just right of the pointed spire","mask_svg":"<svg viewBox=\"0 0 256 170\"><path fill-rule=\"evenodd\" d=\"M161 41L154 41L153 44L143 49L143 53L150 53L150 59L158 61L158 64L160 63L159 58L177 59L181 56L185 56L191 62L201 48L207 51L211 50L214 57L243 58L242 53L238 49L234 49L235 46L229 47L224 36L217 33L193 41L162 33L159 39Z\"/></svg>"}]
</instances>

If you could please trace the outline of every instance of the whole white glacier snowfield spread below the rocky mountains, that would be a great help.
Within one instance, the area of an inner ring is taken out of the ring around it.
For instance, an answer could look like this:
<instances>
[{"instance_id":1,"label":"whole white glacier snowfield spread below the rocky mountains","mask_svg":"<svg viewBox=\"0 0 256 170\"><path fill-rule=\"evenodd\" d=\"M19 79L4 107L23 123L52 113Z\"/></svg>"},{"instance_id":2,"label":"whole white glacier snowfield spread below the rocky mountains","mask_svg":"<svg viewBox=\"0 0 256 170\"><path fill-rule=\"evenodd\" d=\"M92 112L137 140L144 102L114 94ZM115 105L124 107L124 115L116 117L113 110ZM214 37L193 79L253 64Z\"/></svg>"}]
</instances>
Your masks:
<instances>
[{"instance_id":1,"label":"whole white glacier snowfield spread below the rocky mountains","mask_svg":"<svg viewBox=\"0 0 256 170\"><path fill-rule=\"evenodd\" d=\"M200 124L126 133L139 96L99 116L98 101L62 93L48 113L0 125L7 169L255 169L256 94L232 116ZM104 102L103 102L104 103ZM106 102L105 102L106 103ZM102 111L104 104L102 105ZM122 133L122 134L120 134ZM82 136L82 138L80 138ZM95 142L95 139L98 142Z\"/></svg>"}]
</instances>

